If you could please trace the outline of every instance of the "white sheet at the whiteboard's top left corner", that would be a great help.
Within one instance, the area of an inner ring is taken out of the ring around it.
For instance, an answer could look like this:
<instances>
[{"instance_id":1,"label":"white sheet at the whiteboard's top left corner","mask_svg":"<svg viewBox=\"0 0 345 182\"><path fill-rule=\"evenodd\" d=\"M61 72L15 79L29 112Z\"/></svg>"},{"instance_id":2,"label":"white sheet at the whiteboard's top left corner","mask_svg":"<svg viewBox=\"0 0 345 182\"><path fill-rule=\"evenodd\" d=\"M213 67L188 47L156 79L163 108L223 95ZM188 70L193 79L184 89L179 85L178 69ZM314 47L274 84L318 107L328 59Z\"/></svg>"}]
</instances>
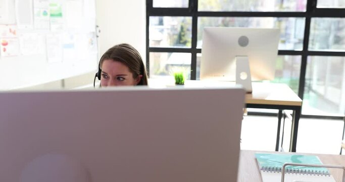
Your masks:
<instances>
[{"instance_id":1,"label":"white sheet at the whiteboard's top left corner","mask_svg":"<svg viewBox=\"0 0 345 182\"><path fill-rule=\"evenodd\" d=\"M14 0L0 0L0 24L15 24Z\"/></svg>"}]
</instances>

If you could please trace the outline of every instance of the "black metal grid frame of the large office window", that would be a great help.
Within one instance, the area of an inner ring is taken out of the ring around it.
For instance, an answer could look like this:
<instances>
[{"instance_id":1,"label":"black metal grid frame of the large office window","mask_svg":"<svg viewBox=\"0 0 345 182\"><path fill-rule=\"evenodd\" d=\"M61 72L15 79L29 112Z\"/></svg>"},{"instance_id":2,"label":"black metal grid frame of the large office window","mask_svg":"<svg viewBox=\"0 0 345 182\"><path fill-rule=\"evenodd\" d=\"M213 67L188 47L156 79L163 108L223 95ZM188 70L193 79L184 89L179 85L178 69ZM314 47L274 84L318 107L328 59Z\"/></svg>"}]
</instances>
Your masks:
<instances>
[{"instance_id":1,"label":"black metal grid frame of the large office window","mask_svg":"<svg viewBox=\"0 0 345 182\"><path fill-rule=\"evenodd\" d=\"M198 41L198 17L291 17L305 18L303 50L278 50L278 55L302 56L298 96L303 98L308 56L340 56L345 57L345 52L335 51L309 51L309 34L311 18L345 18L345 9L317 8L317 0L307 0L305 12L199 12L198 0L189 0L188 8L154 8L153 0L146 0L146 68L150 75L150 53L191 53L190 79L196 79L196 55L201 49L196 48ZM184 16L192 18L191 48L156 48L150 47L149 26L151 16ZM344 113L345 114L345 113ZM342 116L301 115L306 118L344 119Z\"/></svg>"}]
</instances>

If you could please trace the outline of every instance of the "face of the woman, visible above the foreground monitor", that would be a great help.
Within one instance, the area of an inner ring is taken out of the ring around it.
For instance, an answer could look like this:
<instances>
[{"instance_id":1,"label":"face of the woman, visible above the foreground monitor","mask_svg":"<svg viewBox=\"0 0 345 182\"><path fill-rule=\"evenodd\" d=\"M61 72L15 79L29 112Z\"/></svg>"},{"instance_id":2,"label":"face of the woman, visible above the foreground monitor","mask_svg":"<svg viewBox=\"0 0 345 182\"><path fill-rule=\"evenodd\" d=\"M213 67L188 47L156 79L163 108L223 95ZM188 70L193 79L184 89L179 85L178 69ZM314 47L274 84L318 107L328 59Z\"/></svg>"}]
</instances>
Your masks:
<instances>
[{"instance_id":1,"label":"face of the woman, visible above the foreground monitor","mask_svg":"<svg viewBox=\"0 0 345 182\"><path fill-rule=\"evenodd\" d=\"M133 78L133 73L129 68L119 62L111 59L104 60L102 63L101 86L120 86L137 85L142 75Z\"/></svg>"}]
</instances>

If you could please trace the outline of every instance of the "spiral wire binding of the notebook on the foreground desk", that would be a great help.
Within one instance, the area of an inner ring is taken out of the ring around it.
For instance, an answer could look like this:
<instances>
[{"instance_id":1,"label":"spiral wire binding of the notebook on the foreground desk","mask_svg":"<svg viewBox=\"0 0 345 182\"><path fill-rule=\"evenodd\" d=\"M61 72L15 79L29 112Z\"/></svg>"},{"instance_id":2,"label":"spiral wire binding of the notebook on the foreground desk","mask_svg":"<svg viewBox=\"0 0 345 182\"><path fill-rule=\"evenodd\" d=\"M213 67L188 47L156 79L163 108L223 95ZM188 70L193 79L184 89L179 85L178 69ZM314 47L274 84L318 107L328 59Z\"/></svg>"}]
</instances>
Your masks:
<instances>
[{"instance_id":1,"label":"spiral wire binding of the notebook on the foreground desk","mask_svg":"<svg viewBox=\"0 0 345 182\"><path fill-rule=\"evenodd\" d=\"M260 170L266 171L266 172L281 172L282 167L263 166L260 168ZM285 172L286 173L295 173L295 174L331 175L328 170L305 170L305 169L286 168Z\"/></svg>"}]
</instances>

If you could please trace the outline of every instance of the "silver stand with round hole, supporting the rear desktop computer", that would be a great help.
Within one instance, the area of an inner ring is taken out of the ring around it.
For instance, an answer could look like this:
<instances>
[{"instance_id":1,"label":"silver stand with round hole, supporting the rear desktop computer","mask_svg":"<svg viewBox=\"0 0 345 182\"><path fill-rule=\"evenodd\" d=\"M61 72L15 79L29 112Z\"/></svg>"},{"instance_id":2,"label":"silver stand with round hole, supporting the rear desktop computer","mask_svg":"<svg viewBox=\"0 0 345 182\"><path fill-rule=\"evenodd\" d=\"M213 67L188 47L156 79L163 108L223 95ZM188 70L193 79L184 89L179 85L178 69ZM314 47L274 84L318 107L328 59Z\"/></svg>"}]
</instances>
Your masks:
<instances>
[{"instance_id":1,"label":"silver stand with round hole, supporting the rear desktop computer","mask_svg":"<svg viewBox=\"0 0 345 182\"><path fill-rule=\"evenodd\" d=\"M236 56L236 84L241 84L247 93L252 93L252 77L248 56Z\"/></svg>"}]
</instances>

